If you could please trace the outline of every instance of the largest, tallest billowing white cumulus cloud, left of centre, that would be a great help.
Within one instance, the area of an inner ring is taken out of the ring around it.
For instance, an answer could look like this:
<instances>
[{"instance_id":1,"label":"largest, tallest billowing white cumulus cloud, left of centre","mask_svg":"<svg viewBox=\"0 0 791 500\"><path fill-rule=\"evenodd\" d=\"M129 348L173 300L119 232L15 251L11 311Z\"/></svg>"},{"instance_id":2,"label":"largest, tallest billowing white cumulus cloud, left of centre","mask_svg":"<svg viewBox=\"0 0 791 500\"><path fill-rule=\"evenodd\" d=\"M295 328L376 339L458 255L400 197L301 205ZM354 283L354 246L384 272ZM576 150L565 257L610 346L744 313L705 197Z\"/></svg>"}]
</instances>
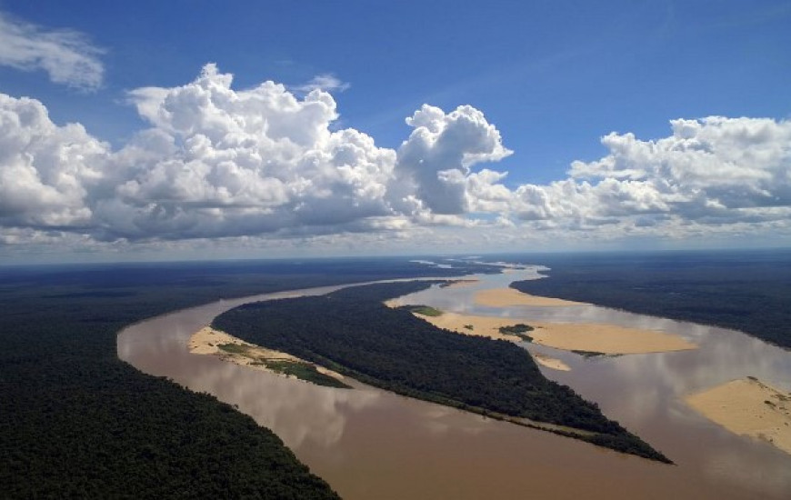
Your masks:
<instances>
[{"instance_id":1,"label":"largest, tallest billowing white cumulus cloud, left of centre","mask_svg":"<svg viewBox=\"0 0 791 500\"><path fill-rule=\"evenodd\" d=\"M331 131L331 95L314 89L299 99L274 82L242 91L232 83L206 65L188 85L130 93L152 128L115 155L128 178L102 202L108 230L127 238L298 233L394 215L385 192L395 154L354 129Z\"/></svg>"}]
</instances>

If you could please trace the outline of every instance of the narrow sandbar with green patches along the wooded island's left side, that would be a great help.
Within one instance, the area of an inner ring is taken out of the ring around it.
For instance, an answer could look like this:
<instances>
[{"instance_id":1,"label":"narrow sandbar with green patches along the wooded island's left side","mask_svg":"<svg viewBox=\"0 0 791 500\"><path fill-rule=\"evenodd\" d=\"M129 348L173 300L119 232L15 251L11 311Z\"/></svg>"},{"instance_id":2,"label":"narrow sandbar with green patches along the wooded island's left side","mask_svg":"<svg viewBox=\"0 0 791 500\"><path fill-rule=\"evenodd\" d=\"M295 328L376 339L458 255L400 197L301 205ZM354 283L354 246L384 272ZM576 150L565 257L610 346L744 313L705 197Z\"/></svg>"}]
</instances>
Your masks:
<instances>
[{"instance_id":1,"label":"narrow sandbar with green patches along the wooded island's left side","mask_svg":"<svg viewBox=\"0 0 791 500\"><path fill-rule=\"evenodd\" d=\"M240 345L245 346L244 352L228 352L221 349L220 345ZM265 362L292 362L313 365L295 355L289 355L273 349L266 349L260 345L249 344L234 335L226 334L221 330L215 330L211 326L205 326L195 332L189 339L189 352L195 355L217 355L224 361L235 363L236 365L247 366L255 370L283 375L266 367ZM341 380L344 375L338 374L324 366L314 365L316 371L321 374L329 375ZM289 376L289 375L283 375ZM289 376L289 378L295 378Z\"/></svg>"}]
</instances>

